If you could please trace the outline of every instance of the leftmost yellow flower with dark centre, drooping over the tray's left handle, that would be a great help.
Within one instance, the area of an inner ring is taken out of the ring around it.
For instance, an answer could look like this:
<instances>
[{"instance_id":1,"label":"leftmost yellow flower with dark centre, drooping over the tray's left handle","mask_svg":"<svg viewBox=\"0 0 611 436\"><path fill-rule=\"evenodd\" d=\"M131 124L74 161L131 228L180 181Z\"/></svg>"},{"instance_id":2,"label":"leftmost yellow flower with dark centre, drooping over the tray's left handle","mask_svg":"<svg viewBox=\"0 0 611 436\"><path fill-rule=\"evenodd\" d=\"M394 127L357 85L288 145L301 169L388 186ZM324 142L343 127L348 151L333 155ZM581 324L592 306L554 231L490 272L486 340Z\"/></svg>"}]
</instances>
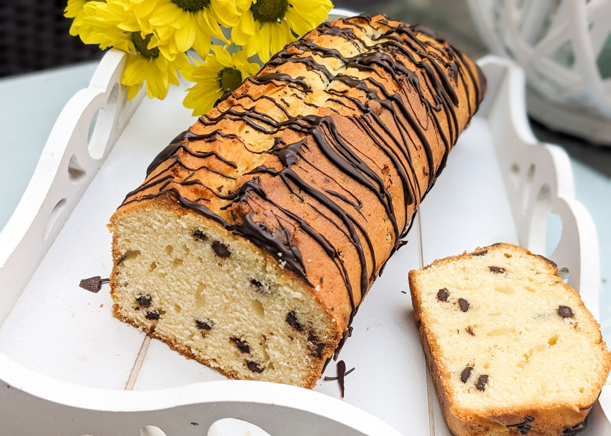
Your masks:
<instances>
[{"instance_id":1,"label":"leftmost yellow flower with dark centre, drooping over the tray's left handle","mask_svg":"<svg viewBox=\"0 0 611 436\"><path fill-rule=\"evenodd\" d=\"M169 85L178 85L177 69L188 68L189 60L185 53L170 53L167 41L155 34L147 20L134 13L132 5L129 0L98 2L95 13L83 18L87 25L83 27L89 27L90 31L83 41L131 54L121 76L121 83L128 89L128 98L133 98L146 82L148 98L163 100ZM170 56L164 56L163 52Z\"/></svg>"}]
</instances>

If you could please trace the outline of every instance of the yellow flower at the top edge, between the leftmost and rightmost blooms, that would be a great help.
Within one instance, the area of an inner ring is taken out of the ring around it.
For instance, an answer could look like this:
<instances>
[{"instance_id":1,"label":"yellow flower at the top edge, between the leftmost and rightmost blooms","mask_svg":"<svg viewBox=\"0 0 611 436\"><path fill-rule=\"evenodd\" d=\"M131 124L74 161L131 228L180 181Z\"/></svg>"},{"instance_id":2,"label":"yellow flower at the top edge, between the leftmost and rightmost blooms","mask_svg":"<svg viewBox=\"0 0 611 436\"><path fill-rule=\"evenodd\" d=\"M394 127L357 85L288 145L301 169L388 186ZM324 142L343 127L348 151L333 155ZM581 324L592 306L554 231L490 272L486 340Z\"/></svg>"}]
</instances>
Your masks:
<instances>
[{"instance_id":1,"label":"yellow flower at the top edge, between the leftmost and rightmost blooms","mask_svg":"<svg viewBox=\"0 0 611 436\"><path fill-rule=\"evenodd\" d=\"M159 37L168 40L176 51L193 48L205 58L210 37L224 40L219 24L238 24L240 10L236 0L154 0L155 10L148 19ZM238 0L243 4L244 0Z\"/></svg>"}]
</instances>

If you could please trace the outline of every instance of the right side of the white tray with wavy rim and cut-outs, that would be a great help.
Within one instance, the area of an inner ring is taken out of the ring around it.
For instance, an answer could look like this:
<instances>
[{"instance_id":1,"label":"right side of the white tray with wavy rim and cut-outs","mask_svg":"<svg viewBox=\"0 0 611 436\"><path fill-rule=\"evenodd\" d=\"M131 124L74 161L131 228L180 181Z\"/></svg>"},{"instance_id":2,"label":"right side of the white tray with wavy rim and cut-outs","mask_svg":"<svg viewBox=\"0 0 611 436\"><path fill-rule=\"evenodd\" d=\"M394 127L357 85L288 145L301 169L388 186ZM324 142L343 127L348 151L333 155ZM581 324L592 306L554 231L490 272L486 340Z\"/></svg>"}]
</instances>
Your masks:
<instances>
[{"instance_id":1,"label":"right side of the white tray with wavy rim and cut-outs","mask_svg":"<svg viewBox=\"0 0 611 436\"><path fill-rule=\"evenodd\" d=\"M548 217L557 214L562 220L562 236L549 257L598 319L598 238L590 213L575 198L568 155L557 145L541 144L533 135L524 112L525 94L515 92L525 89L524 71L510 60L494 56L484 57L478 64L490 78L478 115L487 118L491 130L498 134L494 144L519 243L534 253L545 253Z\"/></svg>"}]
</instances>

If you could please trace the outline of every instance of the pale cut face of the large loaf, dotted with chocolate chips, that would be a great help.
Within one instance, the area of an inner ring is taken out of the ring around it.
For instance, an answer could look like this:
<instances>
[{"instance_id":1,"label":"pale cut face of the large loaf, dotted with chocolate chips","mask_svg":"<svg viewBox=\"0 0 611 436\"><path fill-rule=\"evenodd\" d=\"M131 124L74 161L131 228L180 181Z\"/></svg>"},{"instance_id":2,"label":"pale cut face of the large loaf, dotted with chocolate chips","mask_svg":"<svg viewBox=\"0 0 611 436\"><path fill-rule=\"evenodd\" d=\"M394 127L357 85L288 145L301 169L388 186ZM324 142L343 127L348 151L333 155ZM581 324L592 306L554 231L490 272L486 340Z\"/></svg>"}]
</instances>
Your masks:
<instances>
[{"instance_id":1,"label":"pale cut face of the large loaf, dotted with chocolate chips","mask_svg":"<svg viewBox=\"0 0 611 436\"><path fill-rule=\"evenodd\" d=\"M225 376L315 385L341 335L315 290L176 206L123 208L111 227L117 318Z\"/></svg>"}]
</instances>

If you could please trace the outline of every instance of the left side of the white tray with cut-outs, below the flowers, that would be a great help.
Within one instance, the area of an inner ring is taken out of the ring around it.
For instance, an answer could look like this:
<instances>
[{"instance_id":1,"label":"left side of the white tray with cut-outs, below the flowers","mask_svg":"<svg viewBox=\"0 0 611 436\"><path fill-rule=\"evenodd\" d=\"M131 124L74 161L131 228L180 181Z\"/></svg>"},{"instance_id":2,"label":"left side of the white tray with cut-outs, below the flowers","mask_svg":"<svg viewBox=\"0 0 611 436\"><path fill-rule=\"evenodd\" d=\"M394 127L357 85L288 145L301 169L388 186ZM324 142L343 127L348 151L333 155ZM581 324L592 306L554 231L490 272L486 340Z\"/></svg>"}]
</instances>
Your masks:
<instances>
[{"instance_id":1,"label":"left side of the white tray with cut-outs, below the flowers","mask_svg":"<svg viewBox=\"0 0 611 436\"><path fill-rule=\"evenodd\" d=\"M64 106L26 192L0 233L0 324L142 101L143 92L128 101L120 84L125 56L108 51L89 87Z\"/></svg>"}]
</instances>

